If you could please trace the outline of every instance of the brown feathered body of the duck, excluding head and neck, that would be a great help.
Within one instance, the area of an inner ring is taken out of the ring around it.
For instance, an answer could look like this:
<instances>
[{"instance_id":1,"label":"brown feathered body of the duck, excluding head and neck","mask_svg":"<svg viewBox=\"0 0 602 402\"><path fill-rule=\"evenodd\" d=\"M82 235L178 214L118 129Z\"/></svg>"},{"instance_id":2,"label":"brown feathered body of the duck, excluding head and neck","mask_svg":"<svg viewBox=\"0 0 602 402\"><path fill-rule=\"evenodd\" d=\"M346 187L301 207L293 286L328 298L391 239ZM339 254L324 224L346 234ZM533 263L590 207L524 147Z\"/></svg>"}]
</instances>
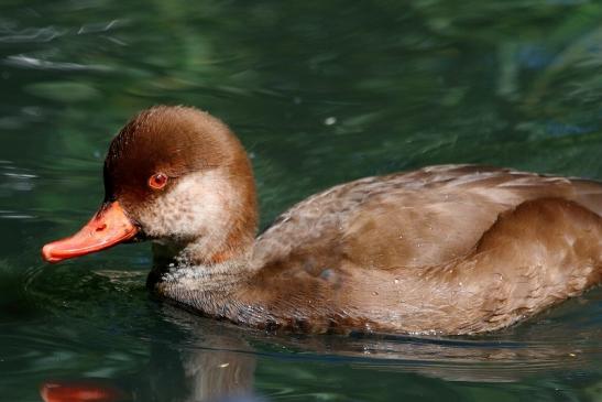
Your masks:
<instances>
[{"instance_id":1,"label":"brown feathered body of the duck, excluding head and neck","mask_svg":"<svg viewBox=\"0 0 602 402\"><path fill-rule=\"evenodd\" d=\"M228 292L168 274L153 287L265 329L489 332L600 281L602 220L579 203L600 213L602 186L471 165L368 177L283 214Z\"/></svg>"}]
</instances>

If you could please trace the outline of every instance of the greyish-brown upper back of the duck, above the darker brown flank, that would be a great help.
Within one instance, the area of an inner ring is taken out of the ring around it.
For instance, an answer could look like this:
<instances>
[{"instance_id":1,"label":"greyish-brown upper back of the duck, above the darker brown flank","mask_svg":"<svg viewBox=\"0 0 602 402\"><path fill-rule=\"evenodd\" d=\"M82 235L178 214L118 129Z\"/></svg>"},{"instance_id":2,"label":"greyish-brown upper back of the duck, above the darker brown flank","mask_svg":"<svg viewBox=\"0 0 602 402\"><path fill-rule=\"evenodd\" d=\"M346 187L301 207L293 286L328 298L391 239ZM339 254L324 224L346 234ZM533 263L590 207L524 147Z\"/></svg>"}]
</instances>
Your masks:
<instances>
[{"instance_id":1,"label":"greyish-brown upper back of the duck, above the darker brown flank","mask_svg":"<svg viewBox=\"0 0 602 402\"><path fill-rule=\"evenodd\" d=\"M602 214L602 185L511 170L441 165L332 187L283 214L255 262L320 274L341 261L365 269L433 267L474 248L501 213L537 198Z\"/></svg>"}]
</instances>

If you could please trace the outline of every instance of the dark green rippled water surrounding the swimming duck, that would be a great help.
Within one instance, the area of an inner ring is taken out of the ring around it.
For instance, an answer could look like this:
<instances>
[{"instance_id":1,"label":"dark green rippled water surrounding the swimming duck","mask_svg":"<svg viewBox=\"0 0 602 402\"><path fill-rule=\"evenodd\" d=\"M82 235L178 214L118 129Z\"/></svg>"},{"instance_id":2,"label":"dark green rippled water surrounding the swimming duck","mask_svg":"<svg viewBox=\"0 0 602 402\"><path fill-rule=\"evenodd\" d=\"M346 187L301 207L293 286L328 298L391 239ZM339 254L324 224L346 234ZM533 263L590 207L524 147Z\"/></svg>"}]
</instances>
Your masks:
<instances>
[{"instance_id":1,"label":"dark green rippled water surrounding the swimming duck","mask_svg":"<svg viewBox=\"0 0 602 402\"><path fill-rule=\"evenodd\" d=\"M601 19L585 0L3 0L0 400L41 401L44 384L135 401L602 400L600 290L479 337L292 337L151 298L146 245L39 257L96 209L110 138L155 104L239 133L264 226L332 184L436 163L602 178Z\"/></svg>"}]
</instances>

